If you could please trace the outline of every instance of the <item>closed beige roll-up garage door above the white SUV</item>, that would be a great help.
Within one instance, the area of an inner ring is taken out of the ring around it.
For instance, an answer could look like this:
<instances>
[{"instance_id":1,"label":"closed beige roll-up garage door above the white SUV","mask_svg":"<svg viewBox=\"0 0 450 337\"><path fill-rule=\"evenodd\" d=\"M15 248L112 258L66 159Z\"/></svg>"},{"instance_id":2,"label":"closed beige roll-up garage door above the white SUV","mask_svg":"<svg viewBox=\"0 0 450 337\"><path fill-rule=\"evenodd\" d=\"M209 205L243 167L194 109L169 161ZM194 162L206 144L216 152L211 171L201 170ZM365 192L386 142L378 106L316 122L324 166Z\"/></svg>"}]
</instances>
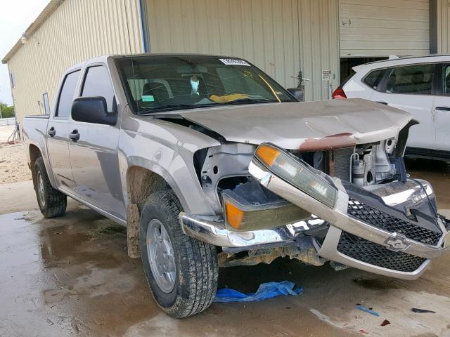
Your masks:
<instances>
[{"instance_id":1,"label":"closed beige roll-up garage door above the white SUV","mask_svg":"<svg viewBox=\"0 0 450 337\"><path fill-rule=\"evenodd\" d=\"M339 0L340 56L430 53L430 0Z\"/></svg>"}]
</instances>

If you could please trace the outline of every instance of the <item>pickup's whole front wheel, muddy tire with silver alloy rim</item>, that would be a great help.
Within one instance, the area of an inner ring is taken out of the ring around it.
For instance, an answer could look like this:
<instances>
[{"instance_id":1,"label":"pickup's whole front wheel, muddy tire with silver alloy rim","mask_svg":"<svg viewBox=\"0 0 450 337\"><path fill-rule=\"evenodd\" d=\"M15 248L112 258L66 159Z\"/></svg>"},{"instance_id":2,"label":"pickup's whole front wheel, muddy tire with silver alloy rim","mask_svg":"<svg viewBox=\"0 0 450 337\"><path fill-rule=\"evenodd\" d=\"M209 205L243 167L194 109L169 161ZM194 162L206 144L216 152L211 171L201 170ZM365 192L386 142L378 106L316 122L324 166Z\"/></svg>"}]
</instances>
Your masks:
<instances>
[{"instance_id":1,"label":"pickup's whole front wheel, muddy tire with silver alloy rim","mask_svg":"<svg viewBox=\"0 0 450 337\"><path fill-rule=\"evenodd\" d=\"M181 230L179 200L172 190L155 192L141 212L139 244L156 303L181 318L208 308L217 290L216 247Z\"/></svg>"}]
</instances>

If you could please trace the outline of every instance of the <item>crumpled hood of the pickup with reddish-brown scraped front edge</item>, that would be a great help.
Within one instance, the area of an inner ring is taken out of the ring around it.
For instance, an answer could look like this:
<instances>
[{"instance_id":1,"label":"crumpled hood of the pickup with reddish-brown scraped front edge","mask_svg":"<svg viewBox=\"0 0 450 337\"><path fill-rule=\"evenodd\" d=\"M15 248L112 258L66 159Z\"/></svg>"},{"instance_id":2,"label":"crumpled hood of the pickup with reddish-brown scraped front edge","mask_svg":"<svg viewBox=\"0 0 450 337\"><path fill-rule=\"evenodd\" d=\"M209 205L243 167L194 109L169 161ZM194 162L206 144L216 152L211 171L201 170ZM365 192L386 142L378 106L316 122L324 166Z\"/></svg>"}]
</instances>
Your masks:
<instances>
[{"instance_id":1,"label":"crumpled hood of the pickup with reddish-brown scraped front edge","mask_svg":"<svg viewBox=\"0 0 450 337\"><path fill-rule=\"evenodd\" d=\"M402 110L360 98L307 103L233 105L178 112L238 143L319 150L396 137L412 119Z\"/></svg>"}]
</instances>

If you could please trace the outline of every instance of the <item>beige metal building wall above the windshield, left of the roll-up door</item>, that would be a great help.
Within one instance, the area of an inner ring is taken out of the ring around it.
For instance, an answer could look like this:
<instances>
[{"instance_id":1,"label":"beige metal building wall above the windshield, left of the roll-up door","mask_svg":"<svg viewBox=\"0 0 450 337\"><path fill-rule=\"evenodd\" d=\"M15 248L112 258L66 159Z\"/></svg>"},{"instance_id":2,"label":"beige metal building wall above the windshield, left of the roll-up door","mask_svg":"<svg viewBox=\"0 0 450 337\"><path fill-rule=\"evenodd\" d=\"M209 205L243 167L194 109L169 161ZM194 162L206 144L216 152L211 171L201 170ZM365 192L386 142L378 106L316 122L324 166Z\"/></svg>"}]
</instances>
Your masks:
<instances>
[{"instance_id":1,"label":"beige metal building wall above the windshield, left of the roll-up door","mask_svg":"<svg viewBox=\"0 0 450 337\"><path fill-rule=\"evenodd\" d=\"M253 62L307 100L339 82L338 0L146 0L152 52L213 53ZM322 71L331 80L322 80ZM328 74L325 72L325 74Z\"/></svg>"}]
</instances>

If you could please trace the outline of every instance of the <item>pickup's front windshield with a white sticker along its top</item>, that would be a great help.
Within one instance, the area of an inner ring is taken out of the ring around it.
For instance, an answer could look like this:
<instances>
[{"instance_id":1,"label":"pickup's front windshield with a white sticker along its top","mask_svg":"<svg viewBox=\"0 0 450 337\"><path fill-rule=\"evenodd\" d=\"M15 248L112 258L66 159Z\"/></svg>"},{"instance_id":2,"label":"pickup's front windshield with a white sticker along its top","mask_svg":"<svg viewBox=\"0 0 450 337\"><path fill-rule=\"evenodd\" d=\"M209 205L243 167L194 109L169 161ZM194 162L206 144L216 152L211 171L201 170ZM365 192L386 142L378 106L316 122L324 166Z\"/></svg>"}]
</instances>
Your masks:
<instances>
[{"instance_id":1,"label":"pickup's front windshield with a white sticker along its top","mask_svg":"<svg viewBox=\"0 0 450 337\"><path fill-rule=\"evenodd\" d=\"M117 59L116 64L136 114L295 101L264 72L239 58L153 55Z\"/></svg>"}]
</instances>

